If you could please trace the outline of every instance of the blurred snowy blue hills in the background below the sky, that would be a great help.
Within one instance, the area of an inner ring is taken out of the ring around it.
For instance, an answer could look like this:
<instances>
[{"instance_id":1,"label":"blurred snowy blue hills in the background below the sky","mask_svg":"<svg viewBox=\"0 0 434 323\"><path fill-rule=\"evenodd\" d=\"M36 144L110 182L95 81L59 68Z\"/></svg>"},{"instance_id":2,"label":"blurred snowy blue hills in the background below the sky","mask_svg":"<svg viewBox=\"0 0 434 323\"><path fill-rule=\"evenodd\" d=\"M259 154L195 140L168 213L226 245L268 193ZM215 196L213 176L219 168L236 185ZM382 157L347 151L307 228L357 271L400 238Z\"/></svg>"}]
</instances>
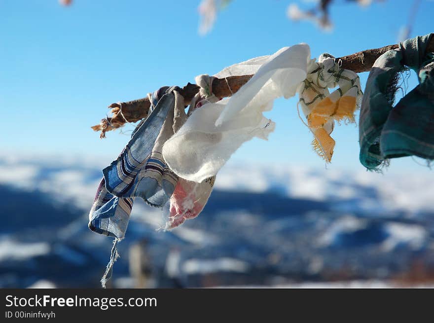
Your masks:
<instances>
[{"instance_id":1,"label":"blurred snowy blue hills in the background below the sky","mask_svg":"<svg viewBox=\"0 0 434 323\"><path fill-rule=\"evenodd\" d=\"M0 157L0 287L100 287L111 239L87 216L101 167ZM137 200L112 287L434 285L432 176L228 165L199 217L164 232ZM136 253L135 253L136 252Z\"/></svg>"}]
</instances>

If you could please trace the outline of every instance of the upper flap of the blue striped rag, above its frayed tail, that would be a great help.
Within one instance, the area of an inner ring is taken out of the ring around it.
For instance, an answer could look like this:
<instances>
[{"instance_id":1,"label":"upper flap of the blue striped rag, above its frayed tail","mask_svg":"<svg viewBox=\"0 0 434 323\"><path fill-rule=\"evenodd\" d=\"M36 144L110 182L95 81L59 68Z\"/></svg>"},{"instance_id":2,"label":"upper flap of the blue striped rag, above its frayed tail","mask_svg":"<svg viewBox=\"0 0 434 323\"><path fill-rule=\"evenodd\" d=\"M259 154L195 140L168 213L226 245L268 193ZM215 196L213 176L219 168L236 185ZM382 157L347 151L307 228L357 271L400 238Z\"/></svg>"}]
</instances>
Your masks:
<instances>
[{"instance_id":1,"label":"upper flap of the blue striped rag, above its frayed tail","mask_svg":"<svg viewBox=\"0 0 434 323\"><path fill-rule=\"evenodd\" d=\"M166 88L159 100L153 100L158 103L149 116L138 125L119 157L103 170L109 193L141 197L154 207L162 207L169 200L178 176L167 167L161 149L174 133L175 107L184 108L177 89Z\"/></svg>"}]
</instances>

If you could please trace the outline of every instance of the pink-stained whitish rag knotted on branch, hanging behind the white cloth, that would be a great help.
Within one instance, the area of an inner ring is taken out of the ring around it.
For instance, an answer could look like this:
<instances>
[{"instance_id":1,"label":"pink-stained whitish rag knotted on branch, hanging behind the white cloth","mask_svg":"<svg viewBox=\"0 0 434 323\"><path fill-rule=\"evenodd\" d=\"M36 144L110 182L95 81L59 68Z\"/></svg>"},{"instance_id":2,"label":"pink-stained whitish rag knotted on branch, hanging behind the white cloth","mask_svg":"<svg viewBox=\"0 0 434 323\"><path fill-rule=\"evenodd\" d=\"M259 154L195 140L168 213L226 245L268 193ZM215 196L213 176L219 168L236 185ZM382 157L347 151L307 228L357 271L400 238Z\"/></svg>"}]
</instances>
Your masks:
<instances>
[{"instance_id":1,"label":"pink-stained whitish rag knotted on branch, hanging behind the white cloth","mask_svg":"<svg viewBox=\"0 0 434 323\"><path fill-rule=\"evenodd\" d=\"M199 85L199 93L191 101L188 114L205 103L214 103L219 99L212 92L214 77L209 75L196 76L196 84ZM179 118L179 122L174 125L174 133L177 133L182 124L185 123L184 116ZM172 197L170 198L169 218L166 222L166 230L171 230L181 225L185 220L198 216L205 205L213 190L216 177L210 177L202 182L195 182L179 178Z\"/></svg>"}]
</instances>

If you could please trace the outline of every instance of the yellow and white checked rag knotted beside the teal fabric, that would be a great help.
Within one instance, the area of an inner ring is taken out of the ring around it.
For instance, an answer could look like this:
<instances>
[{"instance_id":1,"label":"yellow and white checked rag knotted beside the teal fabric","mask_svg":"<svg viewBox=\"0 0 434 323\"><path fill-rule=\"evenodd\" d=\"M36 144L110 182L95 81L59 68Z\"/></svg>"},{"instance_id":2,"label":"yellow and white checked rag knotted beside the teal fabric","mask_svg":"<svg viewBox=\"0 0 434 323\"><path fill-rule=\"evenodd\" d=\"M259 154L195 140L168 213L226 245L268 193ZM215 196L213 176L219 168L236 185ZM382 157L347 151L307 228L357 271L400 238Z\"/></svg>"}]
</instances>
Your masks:
<instances>
[{"instance_id":1,"label":"yellow and white checked rag knotted beside the teal fabric","mask_svg":"<svg viewBox=\"0 0 434 323\"><path fill-rule=\"evenodd\" d=\"M336 86L329 93L328 88ZM330 54L322 54L317 63L309 64L307 77L297 92L307 125L314 134L314 150L328 163L335 145L330 136L334 121L354 122L354 112L360 107L363 93L359 75L341 68Z\"/></svg>"}]
</instances>

